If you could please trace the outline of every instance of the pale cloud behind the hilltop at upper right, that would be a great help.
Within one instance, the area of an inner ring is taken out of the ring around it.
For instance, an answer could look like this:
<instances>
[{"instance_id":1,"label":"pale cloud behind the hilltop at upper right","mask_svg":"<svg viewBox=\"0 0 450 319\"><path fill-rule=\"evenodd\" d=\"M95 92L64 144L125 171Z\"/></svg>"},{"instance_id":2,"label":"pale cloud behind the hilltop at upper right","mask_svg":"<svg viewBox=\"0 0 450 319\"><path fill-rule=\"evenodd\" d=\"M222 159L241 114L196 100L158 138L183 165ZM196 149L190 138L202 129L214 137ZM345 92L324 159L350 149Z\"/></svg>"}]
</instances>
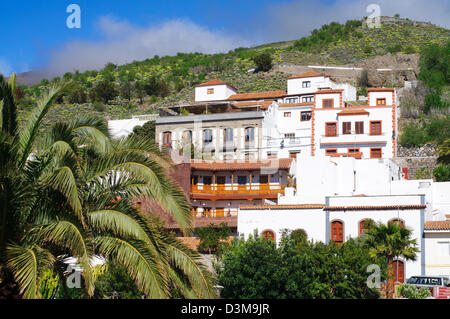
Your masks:
<instances>
[{"instance_id":1,"label":"pale cloud behind the hilltop at upper right","mask_svg":"<svg viewBox=\"0 0 450 319\"><path fill-rule=\"evenodd\" d=\"M293 0L268 5L260 12L257 21L265 23L259 25L254 36L262 36L265 42L298 39L332 21L342 23L369 16L370 12L366 8L372 3L380 6L381 16L394 16L398 13L403 18L450 27L448 0L336 0L331 4Z\"/></svg>"}]
</instances>

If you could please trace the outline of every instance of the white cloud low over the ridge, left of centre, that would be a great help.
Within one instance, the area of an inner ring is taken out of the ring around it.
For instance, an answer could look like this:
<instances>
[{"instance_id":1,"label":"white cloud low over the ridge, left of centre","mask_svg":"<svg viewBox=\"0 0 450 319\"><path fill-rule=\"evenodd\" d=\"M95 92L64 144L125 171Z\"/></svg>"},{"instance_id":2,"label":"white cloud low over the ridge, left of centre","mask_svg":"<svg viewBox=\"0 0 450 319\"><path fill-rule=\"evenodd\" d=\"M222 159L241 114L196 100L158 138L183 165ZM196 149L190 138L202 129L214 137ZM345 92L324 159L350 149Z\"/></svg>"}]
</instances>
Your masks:
<instances>
[{"instance_id":1,"label":"white cloud low over the ridge, left of centre","mask_svg":"<svg viewBox=\"0 0 450 319\"><path fill-rule=\"evenodd\" d=\"M51 53L47 71L62 74L74 70L98 69L107 62L124 64L178 52L227 52L250 45L249 41L240 37L221 31L213 32L186 20L138 28L127 21L103 17L98 26L105 36L103 40L66 43Z\"/></svg>"}]
</instances>

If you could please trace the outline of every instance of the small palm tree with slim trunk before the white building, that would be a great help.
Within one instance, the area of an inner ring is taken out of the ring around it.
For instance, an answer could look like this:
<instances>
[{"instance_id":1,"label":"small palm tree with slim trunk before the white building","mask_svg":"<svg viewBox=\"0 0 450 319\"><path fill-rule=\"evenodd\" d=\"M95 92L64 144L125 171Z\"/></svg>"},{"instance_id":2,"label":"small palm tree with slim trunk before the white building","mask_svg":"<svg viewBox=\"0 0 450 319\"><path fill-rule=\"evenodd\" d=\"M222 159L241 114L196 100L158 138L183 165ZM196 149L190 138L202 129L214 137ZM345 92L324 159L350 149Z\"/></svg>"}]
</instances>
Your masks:
<instances>
[{"instance_id":1,"label":"small palm tree with slim trunk before the white building","mask_svg":"<svg viewBox=\"0 0 450 319\"><path fill-rule=\"evenodd\" d=\"M372 258L386 258L388 262L387 297L394 296L394 259L416 260L416 239L411 239L412 231L400 223L371 223L365 235L365 245Z\"/></svg>"}]
</instances>

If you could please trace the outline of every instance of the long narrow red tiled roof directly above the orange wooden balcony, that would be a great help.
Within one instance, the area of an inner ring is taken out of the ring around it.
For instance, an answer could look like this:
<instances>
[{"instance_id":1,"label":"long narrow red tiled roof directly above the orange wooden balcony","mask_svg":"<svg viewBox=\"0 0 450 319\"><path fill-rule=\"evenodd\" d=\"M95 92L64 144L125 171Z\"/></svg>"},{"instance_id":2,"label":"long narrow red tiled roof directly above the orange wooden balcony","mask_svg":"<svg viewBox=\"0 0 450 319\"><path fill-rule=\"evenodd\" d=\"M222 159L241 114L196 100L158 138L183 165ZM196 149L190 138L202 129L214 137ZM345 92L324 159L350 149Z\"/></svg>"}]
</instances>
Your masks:
<instances>
[{"instance_id":1,"label":"long narrow red tiled roof directly above the orange wooden balcony","mask_svg":"<svg viewBox=\"0 0 450 319\"><path fill-rule=\"evenodd\" d=\"M201 161L191 160L191 169L207 171L259 170L261 168L289 169L292 158L268 159L265 161Z\"/></svg>"}]
</instances>

